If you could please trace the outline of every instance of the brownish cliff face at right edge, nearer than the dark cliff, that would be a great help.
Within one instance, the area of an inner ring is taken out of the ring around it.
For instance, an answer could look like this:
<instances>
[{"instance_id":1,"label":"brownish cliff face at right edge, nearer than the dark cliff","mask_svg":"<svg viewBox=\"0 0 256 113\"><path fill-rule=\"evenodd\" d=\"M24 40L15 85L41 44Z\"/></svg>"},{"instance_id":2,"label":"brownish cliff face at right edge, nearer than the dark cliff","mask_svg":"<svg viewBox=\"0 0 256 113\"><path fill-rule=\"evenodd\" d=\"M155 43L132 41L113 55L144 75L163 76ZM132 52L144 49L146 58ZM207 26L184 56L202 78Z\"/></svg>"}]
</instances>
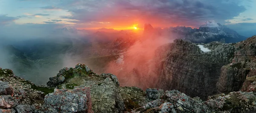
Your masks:
<instances>
[{"instance_id":1,"label":"brownish cliff face at right edge, nearer than the dark cliff","mask_svg":"<svg viewBox=\"0 0 256 113\"><path fill-rule=\"evenodd\" d=\"M218 90L223 93L240 89L249 90L247 88L251 84L253 86L255 77L256 36L236 43L233 62L221 68Z\"/></svg>"}]
</instances>

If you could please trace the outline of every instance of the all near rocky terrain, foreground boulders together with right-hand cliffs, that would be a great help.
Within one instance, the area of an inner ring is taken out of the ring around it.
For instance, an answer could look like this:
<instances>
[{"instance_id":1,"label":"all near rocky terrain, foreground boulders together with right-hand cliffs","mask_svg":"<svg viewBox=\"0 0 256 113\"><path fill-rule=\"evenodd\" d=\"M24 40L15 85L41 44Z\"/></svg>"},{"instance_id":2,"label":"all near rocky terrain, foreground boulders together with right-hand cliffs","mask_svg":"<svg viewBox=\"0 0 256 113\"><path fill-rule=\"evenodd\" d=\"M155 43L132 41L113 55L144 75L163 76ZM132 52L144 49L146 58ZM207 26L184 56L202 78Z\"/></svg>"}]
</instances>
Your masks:
<instances>
[{"instance_id":1,"label":"all near rocky terrain, foreground boulders together with right-hand cliffs","mask_svg":"<svg viewBox=\"0 0 256 113\"><path fill-rule=\"evenodd\" d=\"M0 68L0 113L256 112L256 36L229 44L175 40L157 52L164 53L154 60L162 65L159 89L120 87L115 75L83 64L61 69L47 87Z\"/></svg>"}]
</instances>

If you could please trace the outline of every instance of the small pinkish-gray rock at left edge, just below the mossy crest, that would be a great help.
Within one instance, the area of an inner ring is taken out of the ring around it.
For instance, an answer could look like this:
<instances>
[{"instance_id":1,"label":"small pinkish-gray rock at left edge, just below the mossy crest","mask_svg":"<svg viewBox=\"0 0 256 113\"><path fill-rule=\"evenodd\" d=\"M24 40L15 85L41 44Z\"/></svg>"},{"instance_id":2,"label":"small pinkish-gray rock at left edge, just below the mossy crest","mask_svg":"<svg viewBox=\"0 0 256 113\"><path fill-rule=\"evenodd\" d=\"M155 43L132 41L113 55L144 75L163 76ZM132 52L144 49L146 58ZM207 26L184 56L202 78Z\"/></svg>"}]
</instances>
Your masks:
<instances>
[{"instance_id":1,"label":"small pinkish-gray rock at left edge, just below the mossy crest","mask_svg":"<svg viewBox=\"0 0 256 113\"><path fill-rule=\"evenodd\" d=\"M13 88L9 85L9 82L0 81L0 95L12 95L14 94Z\"/></svg>"}]
</instances>

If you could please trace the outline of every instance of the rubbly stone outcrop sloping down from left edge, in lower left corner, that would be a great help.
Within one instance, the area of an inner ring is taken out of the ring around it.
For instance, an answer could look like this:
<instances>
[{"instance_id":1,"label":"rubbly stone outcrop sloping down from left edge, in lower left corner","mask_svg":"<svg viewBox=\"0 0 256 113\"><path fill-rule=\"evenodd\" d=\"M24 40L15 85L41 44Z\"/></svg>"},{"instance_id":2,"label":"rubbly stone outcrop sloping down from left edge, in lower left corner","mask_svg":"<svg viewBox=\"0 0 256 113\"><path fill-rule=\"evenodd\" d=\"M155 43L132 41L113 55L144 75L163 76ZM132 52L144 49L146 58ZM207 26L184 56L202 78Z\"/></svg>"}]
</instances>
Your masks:
<instances>
[{"instance_id":1,"label":"rubbly stone outcrop sloping down from left edge, in lower left corner","mask_svg":"<svg viewBox=\"0 0 256 113\"><path fill-rule=\"evenodd\" d=\"M0 68L0 113L35 113L49 90Z\"/></svg>"}]
</instances>

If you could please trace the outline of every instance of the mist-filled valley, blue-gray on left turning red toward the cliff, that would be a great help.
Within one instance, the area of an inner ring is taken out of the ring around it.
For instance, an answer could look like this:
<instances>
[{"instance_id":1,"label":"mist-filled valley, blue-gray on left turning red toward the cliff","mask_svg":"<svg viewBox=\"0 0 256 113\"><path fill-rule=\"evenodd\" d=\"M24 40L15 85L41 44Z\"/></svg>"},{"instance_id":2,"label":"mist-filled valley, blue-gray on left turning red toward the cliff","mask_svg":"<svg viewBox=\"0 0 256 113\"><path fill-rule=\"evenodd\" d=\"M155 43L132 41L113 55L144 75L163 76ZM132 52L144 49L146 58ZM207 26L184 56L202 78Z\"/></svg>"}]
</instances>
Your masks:
<instances>
[{"instance_id":1,"label":"mist-filled valley, blue-gray on left turning red toward the cliff","mask_svg":"<svg viewBox=\"0 0 256 113\"><path fill-rule=\"evenodd\" d=\"M62 28L48 36L6 43L14 48L0 48L0 67L12 69L15 75L37 85L46 85L61 68L82 63L99 74L113 73L121 86L153 88L157 81L154 59L160 56L156 50L172 42L169 35L140 36L132 31L91 33Z\"/></svg>"}]
</instances>

